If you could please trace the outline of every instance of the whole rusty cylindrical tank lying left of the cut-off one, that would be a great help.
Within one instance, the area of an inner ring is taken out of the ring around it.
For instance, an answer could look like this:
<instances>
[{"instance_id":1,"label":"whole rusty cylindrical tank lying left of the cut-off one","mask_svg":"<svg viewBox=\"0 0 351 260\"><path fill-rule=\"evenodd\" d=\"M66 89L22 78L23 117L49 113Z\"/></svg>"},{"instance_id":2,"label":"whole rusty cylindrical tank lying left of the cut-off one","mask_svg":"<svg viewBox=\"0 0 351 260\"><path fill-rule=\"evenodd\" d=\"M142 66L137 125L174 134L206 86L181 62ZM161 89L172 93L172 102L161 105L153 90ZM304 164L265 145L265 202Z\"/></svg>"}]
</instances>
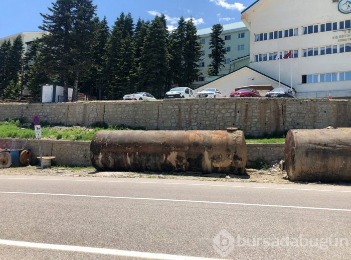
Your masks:
<instances>
[{"instance_id":1,"label":"whole rusty cylindrical tank lying left of the cut-off one","mask_svg":"<svg viewBox=\"0 0 351 260\"><path fill-rule=\"evenodd\" d=\"M100 171L243 174L242 131L100 131L90 145Z\"/></svg>"}]
</instances>

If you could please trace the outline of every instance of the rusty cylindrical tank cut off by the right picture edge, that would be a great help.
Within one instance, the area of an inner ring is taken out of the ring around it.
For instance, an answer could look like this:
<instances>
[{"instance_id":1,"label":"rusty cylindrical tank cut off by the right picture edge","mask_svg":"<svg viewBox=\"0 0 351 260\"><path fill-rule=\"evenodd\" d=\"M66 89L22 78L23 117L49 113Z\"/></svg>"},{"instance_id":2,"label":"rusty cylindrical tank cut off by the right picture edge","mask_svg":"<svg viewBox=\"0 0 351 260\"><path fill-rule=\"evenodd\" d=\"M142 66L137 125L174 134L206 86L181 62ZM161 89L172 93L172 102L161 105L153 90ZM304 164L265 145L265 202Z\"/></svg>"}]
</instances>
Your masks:
<instances>
[{"instance_id":1,"label":"rusty cylindrical tank cut off by the right picture edge","mask_svg":"<svg viewBox=\"0 0 351 260\"><path fill-rule=\"evenodd\" d=\"M291 181L351 182L351 128L290 130L284 160Z\"/></svg>"}]
</instances>

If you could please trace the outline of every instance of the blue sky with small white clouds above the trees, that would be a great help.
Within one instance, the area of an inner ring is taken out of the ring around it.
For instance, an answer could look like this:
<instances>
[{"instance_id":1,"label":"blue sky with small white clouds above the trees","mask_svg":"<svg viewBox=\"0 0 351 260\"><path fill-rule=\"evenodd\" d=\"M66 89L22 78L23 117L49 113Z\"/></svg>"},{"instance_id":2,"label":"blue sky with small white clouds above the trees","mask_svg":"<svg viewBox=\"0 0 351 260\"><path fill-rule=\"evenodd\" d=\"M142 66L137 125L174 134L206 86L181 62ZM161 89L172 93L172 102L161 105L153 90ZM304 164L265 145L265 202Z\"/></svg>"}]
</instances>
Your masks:
<instances>
[{"instance_id":1,"label":"blue sky with small white clouds above the trees","mask_svg":"<svg viewBox=\"0 0 351 260\"><path fill-rule=\"evenodd\" d=\"M54 0L1 0L0 38L19 32L39 31L42 23L39 13L48 13ZM238 1L238 2L236 2ZM240 12L255 0L94 0L97 15L107 17L113 25L121 12L130 12L136 21L139 17L151 20L163 13L168 27L177 26L178 18L193 17L198 29L212 25L240 22Z\"/></svg>"}]
</instances>

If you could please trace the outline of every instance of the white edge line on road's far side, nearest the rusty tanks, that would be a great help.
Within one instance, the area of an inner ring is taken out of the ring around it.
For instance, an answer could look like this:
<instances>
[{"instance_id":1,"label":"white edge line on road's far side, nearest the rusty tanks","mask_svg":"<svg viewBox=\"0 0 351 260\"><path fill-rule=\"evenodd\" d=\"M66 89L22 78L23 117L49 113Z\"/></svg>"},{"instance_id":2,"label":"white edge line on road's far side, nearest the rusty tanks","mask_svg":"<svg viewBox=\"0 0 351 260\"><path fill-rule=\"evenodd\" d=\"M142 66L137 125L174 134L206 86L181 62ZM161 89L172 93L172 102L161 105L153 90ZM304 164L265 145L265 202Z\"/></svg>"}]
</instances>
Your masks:
<instances>
[{"instance_id":1,"label":"white edge line on road's far side, nearest the rusty tanks","mask_svg":"<svg viewBox=\"0 0 351 260\"><path fill-rule=\"evenodd\" d=\"M99 177L88 177L99 178ZM102 177L101 177L102 178ZM142 184L165 184L165 185L189 185L189 186L210 186L210 187L226 187L226 188L245 188L245 189L273 189L273 190L297 190L297 191L325 191L325 192L351 192L345 190L322 190L322 189L301 189L301 188L278 188L278 187L252 187L240 185L216 185L216 184L199 184L199 183L180 183L180 182L147 182L147 181L106 181L106 180L74 180L74 179L45 179L45 178L10 178L0 177L8 180L40 180L40 181L72 181L72 182L112 182L112 183L142 183Z\"/></svg>"}]
</instances>

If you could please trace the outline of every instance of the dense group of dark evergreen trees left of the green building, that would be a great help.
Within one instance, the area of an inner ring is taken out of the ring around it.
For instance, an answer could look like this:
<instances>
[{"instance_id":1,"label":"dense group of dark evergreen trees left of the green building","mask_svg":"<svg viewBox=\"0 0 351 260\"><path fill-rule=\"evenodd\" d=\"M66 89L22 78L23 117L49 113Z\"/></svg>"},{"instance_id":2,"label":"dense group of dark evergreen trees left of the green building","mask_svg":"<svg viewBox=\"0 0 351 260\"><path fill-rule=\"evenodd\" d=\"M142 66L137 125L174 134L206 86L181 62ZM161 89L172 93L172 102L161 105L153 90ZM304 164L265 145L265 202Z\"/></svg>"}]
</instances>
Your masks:
<instances>
[{"instance_id":1,"label":"dense group of dark evergreen trees left of the green building","mask_svg":"<svg viewBox=\"0 0 351 260\"><path fill-rule=\"evenodd\" d=\"M93 0L56 0L39 29L42 38L24 54L21 36L0 44L0 97L20 98L23 89L40 99L50 82L96 96L121 99L137 91L161 98L174 85L191 86L200 76L201 45L192 19L168 31L165 16L134 21L121 13L110 28L96 15Z\"/></svg>"}]
</instances>

